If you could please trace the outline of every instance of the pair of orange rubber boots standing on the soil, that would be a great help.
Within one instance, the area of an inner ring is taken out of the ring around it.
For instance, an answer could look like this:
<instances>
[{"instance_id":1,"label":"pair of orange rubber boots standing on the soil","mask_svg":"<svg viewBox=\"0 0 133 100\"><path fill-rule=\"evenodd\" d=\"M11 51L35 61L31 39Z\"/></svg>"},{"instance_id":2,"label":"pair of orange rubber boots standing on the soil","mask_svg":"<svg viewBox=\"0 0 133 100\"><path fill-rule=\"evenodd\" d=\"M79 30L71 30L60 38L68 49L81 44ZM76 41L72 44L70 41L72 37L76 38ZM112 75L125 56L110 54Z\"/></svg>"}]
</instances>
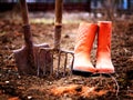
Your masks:
<instances>
[{"instance_id":1,"label":"pair of orange rubber boots standing on the soil","mask_svg":"<svg viewBox=\"0 0 133 100\"><path fill-rule=\"evenodd\" d=\"M91 49L98 33L96 64L91 62ZM111 61L112 22L98 23L82 22L78 29L78 39L74 47L74 74L88 76L91 73L114 73Z\"/></svg>"}]
</instances>

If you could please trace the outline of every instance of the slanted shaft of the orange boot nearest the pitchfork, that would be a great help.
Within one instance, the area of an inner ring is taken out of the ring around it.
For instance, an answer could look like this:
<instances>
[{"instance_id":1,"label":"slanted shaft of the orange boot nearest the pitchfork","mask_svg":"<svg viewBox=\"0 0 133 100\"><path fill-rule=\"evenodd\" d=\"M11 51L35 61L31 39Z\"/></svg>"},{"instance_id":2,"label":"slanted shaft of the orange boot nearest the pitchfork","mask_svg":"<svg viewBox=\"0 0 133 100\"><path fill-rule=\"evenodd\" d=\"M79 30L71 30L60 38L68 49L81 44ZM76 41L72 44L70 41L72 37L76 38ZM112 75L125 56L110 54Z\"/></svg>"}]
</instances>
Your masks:
<instances>
[{"instance_id":1,"label":"slanted shaft of the orange boot nearest the pitchfork","mask_svg":"<svg viewBox=\"0 0 133 100\"><path fill-rule=\"evenodd\" d=\"M78 29L76 44L74 52L91 52L92 44L98 31L96 23L82 22Z\"/></svg>"}]
</instances>

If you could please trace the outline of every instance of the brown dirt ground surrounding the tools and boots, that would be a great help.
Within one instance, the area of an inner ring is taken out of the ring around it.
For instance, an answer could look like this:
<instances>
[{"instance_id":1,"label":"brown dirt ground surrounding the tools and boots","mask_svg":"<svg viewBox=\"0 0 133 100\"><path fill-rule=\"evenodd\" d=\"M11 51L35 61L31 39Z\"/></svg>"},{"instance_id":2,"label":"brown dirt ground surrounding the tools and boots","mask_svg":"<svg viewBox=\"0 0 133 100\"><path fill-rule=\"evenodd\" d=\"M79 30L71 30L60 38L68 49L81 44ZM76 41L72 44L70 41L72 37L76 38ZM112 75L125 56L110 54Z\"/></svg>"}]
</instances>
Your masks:
<instances>
[{"instance_id":1,"label":"brown dirt ground surrounding the tools and boots","mask_svg":"<svg viewBox=\"0 0 133 100\"><path fill-rule=\"evenodd\" d=\"M75 16L74 16L75 17ZM49 16L48 16L49 18ZM33 21L34 43L53 46L54 24ZM76 18L78 20L79 18ZM61 48L73 50L79 22L63 23ZM100 19L95 19L100 20ZM92 22L92 20L89 20ZM20 76L12 50L23 44L22 21L0 17L0 100L132 100L133 99L133 19L116 20L112 32L113 77L45 77ZM95 62L96 39L92 50ZM20 57L21 58L21 57Z\"/></svg>"}]
</instances>

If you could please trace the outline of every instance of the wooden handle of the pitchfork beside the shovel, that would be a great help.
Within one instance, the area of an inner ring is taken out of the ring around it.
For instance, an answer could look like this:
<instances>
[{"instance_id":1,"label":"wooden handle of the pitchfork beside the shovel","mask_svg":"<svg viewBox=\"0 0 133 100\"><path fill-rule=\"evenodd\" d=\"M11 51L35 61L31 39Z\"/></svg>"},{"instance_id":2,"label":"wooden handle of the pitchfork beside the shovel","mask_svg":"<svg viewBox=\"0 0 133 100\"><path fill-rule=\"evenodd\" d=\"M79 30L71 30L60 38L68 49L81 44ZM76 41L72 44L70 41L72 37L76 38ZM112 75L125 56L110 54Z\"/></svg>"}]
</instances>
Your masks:
<instances>
[{"instance_id":1,"label":"wooden handle of the pitchfork beside the shovel","mask_svg":"<svg viewBox=\"0 0 133 100\"><path fill-rule=\"evenodd\" d=\"M55 0L54 49L60 50L63 0Z\"/></svg>"}]
</instances>

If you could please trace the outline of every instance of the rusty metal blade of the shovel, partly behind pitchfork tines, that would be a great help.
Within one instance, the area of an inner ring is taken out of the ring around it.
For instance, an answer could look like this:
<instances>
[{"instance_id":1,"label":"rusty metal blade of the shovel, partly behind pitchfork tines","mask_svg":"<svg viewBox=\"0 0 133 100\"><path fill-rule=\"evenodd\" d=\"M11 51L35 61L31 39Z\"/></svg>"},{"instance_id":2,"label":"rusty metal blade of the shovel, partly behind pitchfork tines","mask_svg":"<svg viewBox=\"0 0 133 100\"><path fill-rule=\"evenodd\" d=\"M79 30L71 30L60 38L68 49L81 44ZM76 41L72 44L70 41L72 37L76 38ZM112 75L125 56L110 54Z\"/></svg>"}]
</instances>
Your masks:
<instances>
[{"instance_id":1,"label":"rusty metal blade of the shovel, partly behind pitchfork tines","mask_svg":"<svg viewBox=\"0 0 133 100\"><path fill-rule=\"evenodd\" d=\"M14 50L14 59L16 59L16 63L17 63L17 68L18 68L18 72L20 74L32 74L32 76L37 76L38 74L38 70L39 70L39 74L43 74L43 70L45 70L45 72L50 71L51 66L52 66L52 58L51 54L48 53L41 53L41 56L38 54L39 49L40 48L49 48L49 44L43 43L43 44L34 44L33 46L33 56L34 56L34 64L35 68L31 68L31 66L29 64L29 60L28 60L28 51L25 47L22 47L21 49ZM47 57L47 59L45 59ZM40 61L38 61L38 59L41 59ZM45 66L45 69L40 67L38 69L38 64L42 64L43 61L45 60L45 62L48 62L49 64Z\"/></svg>"}]
</instances>

